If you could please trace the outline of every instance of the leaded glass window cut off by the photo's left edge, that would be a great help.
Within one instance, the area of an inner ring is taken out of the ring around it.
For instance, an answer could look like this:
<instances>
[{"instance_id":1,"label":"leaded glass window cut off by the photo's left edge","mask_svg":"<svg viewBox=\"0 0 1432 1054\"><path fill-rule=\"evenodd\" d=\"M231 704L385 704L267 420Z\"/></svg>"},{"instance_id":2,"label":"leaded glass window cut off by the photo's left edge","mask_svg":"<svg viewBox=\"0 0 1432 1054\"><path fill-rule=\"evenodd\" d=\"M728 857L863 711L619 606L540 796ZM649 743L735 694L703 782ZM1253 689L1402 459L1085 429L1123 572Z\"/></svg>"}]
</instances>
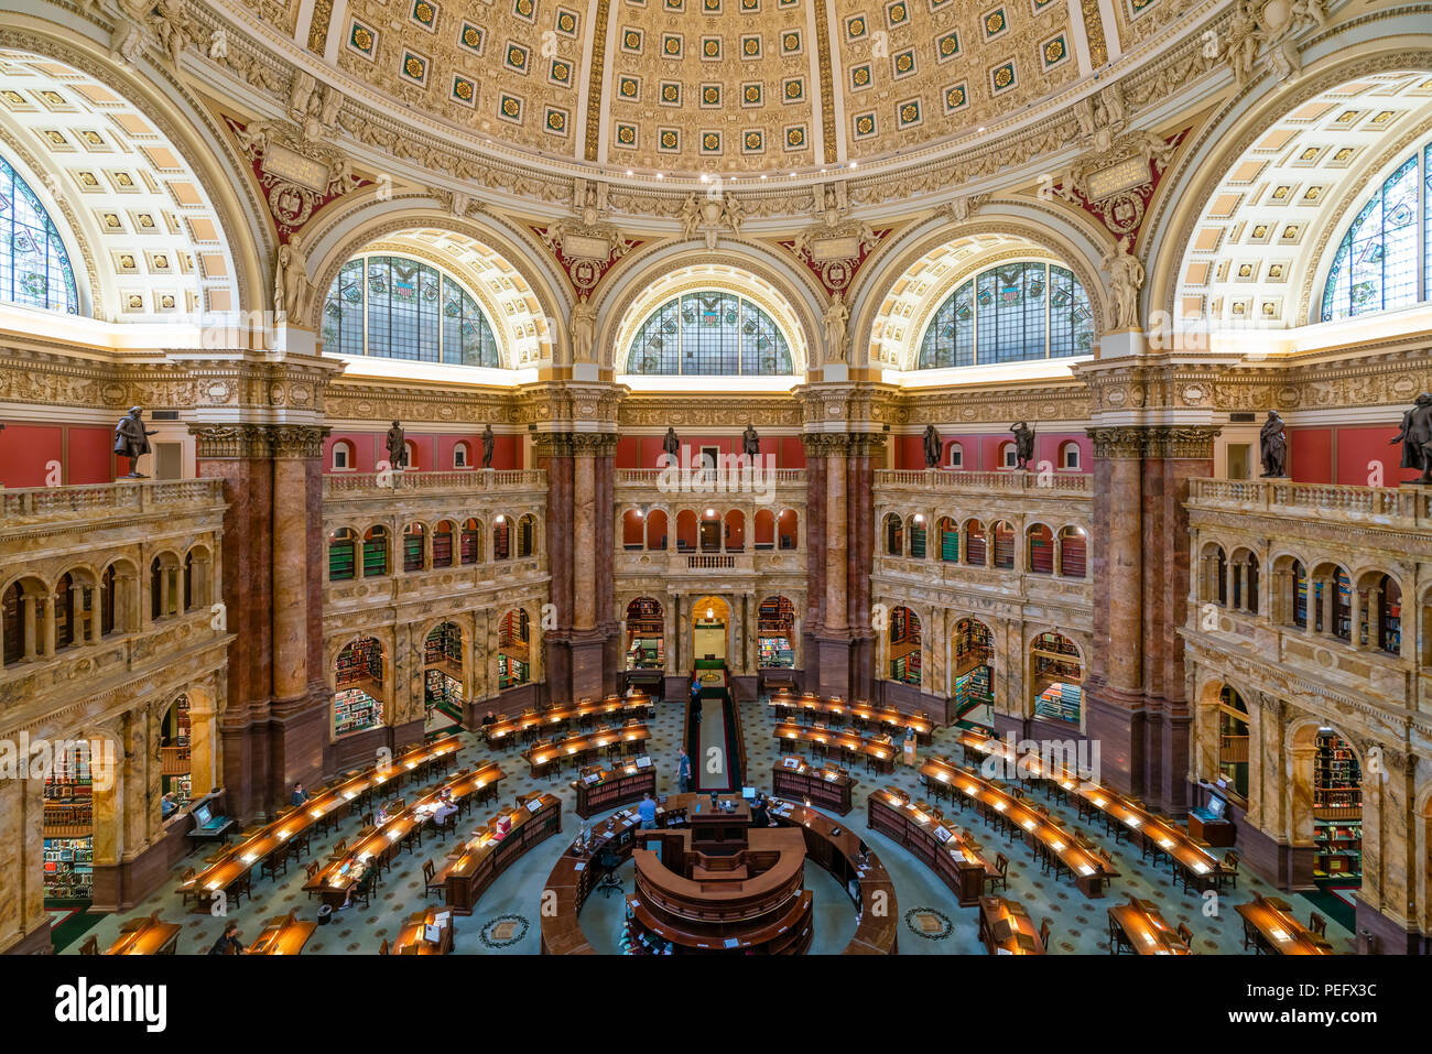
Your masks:
<instances>
[{"instance_id":1,"label":"leaded glass window cut off by the photo's left edge","mask_svg":"<svg viewBox=\"0 0 1432 1054\"><path fill-rule=\"evenodd\" d=\"M74 269L50 215L20 175L0 158L0 299L77 315Z\"/></svg>"}]
</instances>

